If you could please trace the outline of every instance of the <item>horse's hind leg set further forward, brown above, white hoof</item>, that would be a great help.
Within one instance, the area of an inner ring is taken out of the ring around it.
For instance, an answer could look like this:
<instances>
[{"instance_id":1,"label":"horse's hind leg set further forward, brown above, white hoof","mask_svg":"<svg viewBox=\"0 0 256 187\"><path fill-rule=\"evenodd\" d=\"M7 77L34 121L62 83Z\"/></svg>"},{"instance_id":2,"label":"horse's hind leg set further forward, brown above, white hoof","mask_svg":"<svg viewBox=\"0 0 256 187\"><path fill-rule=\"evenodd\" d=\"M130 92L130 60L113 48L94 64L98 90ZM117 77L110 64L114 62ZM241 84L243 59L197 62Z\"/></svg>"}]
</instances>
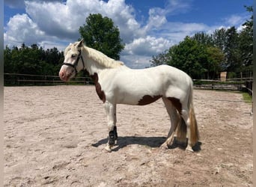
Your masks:
<instances>
[{"instance_id":1,"label":"horse's hind leg set further forward, brown above, white hoof","mask_svg":"<svg viewBox=\"0 0 256 187\"><path fill-rule=\"evenodd\" d=\"M171 101L166 97L162 97L162 101L165 103L165 108L171 120L171 128L168 132L166 141L161 145L163 149L168 149L174 140L174 132L177 128L178 123L180 123L180 114L177 109L172 105Z\"/></svg>"}]
</instances>

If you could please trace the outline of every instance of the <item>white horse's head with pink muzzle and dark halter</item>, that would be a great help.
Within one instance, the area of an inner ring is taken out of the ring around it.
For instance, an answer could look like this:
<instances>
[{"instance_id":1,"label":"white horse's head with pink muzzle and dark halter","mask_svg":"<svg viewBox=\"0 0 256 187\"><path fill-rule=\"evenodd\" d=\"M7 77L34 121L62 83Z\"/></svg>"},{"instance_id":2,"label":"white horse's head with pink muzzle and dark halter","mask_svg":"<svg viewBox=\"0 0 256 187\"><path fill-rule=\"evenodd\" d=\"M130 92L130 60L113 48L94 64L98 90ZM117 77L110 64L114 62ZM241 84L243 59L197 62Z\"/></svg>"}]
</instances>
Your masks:
<instances>
[{"instance_id":1,"label":"white horse's head with pink muzzle and dark halter","mask_svg":"<svg viewBox=\"0 0 256 187\"><path fill-rule=\"evenodd\" d=\"M59 76L61 80L67 82L79 71L85 69L85 62L82 58L82 47L84 40L80 40L76 43L70 43L69 46L64 50L64 63L61 66Z\"/></svg>"}]
</instances>

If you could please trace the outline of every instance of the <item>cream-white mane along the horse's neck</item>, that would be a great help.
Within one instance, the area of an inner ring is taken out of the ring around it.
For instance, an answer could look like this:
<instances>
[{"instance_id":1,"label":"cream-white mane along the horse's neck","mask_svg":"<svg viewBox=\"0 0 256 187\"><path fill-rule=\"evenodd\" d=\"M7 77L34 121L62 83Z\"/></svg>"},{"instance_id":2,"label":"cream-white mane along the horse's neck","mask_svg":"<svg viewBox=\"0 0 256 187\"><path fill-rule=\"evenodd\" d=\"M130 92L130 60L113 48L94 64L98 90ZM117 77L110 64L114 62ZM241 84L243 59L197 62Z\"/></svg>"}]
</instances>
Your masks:
<instances>
[{"instance_id":1,"label":"cream-white mane along the horse's neck","mask_svg":"<svg viewBox=\"0 0 256 187\"><path fill-rule=\"evenodd\" d=\"M109 58L107 55L104 55L102 52L92 49L87 46L83 46L83 49L88 52L88 58L91 58L93 61L97 62L103 67L107 68L116 68L124 66L124 63L121 61L115 61L113 58Z\"/></svg>"}]
</instances>

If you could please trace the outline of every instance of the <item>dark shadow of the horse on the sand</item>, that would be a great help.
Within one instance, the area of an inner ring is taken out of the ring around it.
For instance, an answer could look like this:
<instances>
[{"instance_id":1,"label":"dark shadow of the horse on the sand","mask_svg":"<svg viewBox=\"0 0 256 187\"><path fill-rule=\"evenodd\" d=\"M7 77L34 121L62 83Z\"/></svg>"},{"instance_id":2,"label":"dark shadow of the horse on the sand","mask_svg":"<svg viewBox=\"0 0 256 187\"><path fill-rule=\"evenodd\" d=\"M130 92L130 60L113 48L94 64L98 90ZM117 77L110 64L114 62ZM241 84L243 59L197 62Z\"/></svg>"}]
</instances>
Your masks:
<instances>
[{"instance_id":1,"label":"dark shadow of the horse on the sand","mask_svg":"<svg viewBox=\"0 0 256 187\"><path fill-rule=\"evenodd\" d=\"M138 144L145 147L160 147L166 140L166 137L141 137L141 136L119 136L118 137L118 143L116 144L117 147L112 149L112 151L120 150L124 147L127 147L131 144ZM108 138L104 138L100 141L98 141L95 144L92 144L93 147L99 147L100 145L107 144ZM185 150L187 146L187 142L184 144L180 144L176 137L174 137L174 142L169 146L169 149L174 149L176 147L179 147L182 150ZM198 144L193 147L193 150L199 151L201 150L201 142L199 141Z\"/></svg>"}]
</instances>

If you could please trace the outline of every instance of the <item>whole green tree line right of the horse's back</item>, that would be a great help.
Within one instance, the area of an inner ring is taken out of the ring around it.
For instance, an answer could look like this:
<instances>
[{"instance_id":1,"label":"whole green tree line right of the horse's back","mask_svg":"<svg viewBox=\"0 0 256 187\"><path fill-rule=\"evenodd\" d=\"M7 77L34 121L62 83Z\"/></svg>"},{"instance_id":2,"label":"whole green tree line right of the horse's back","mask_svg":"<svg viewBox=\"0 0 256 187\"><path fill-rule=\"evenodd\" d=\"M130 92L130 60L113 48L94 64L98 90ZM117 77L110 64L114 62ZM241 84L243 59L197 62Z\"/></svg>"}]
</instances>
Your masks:
<instances>
[{"instance_id":1,"label":"whole green tree line right of the horse's back","mask_svg":"<svg viewBox=\"0 0 256 187\"><path fill-rule=\"evenodd\" d=\"M252 7L246 7L252 13ZM186 36L179 44L153 56L151 66L168 64L185 71L192 79L216 79L222 71L228 78L238 73L252 73L253 16L243 24L242 31L216 29L213 34L199 32Z\"/></svg>"}]
</instances>

